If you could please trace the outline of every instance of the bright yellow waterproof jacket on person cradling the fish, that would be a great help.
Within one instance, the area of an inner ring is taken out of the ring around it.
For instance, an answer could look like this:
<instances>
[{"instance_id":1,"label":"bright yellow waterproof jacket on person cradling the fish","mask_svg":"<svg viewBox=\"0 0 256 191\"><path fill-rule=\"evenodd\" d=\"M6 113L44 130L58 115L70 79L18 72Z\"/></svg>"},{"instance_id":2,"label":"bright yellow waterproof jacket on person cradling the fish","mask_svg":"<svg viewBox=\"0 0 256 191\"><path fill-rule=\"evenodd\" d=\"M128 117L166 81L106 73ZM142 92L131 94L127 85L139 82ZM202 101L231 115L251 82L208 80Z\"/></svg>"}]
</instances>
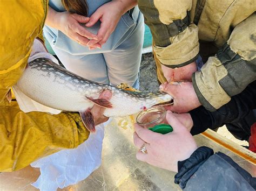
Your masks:
<instances>
[{"instance_id":1,"label":"bright yellow waterproof jacket on person cradling the fish","mask_svg":"<svg viewBox=\"0 0 256 191\"><path fill-rule=\"evenodd\" d=\"M25 114L6 100L25 69L33 40L42 39L47 7L46 0L0 2L0 172L23 168L61 148L75 148L89 136L79 114Z\"/></svg>"}]
</instances>

